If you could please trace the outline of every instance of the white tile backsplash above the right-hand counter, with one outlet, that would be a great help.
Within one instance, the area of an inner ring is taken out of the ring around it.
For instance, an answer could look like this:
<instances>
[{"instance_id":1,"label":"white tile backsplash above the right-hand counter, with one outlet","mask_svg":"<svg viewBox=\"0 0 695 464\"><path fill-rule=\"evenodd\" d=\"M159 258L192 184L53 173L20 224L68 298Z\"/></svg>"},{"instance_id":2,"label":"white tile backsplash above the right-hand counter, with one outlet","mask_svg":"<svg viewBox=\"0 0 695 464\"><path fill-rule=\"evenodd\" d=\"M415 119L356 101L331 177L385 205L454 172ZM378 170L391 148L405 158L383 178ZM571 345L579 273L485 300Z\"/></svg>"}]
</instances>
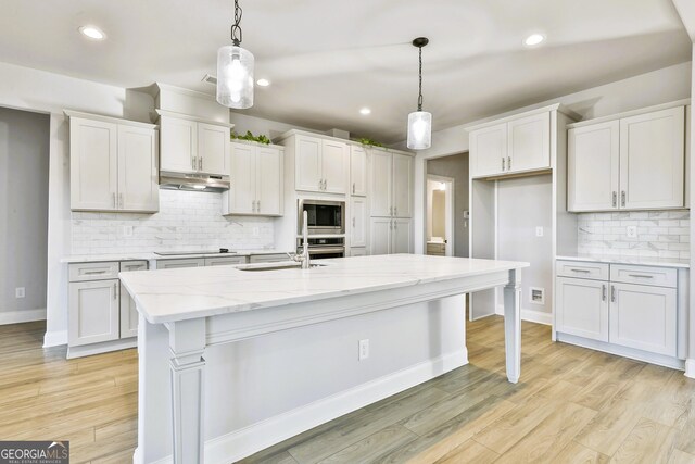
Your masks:
<instances>
[{"instance_id":1,"label":"white tile backsplash above the right-hand counter, with one outlet","mask_svg":"<svg viewBox=\"0 0 695 464\"><path fill-rule=\"evenodd\" d=\"M690 211L633 211L585 213L577 215L580 254L678 258L687 260ZM637 237L628 237L628 226L637 228Z\"/></svg>"}]
</instances>

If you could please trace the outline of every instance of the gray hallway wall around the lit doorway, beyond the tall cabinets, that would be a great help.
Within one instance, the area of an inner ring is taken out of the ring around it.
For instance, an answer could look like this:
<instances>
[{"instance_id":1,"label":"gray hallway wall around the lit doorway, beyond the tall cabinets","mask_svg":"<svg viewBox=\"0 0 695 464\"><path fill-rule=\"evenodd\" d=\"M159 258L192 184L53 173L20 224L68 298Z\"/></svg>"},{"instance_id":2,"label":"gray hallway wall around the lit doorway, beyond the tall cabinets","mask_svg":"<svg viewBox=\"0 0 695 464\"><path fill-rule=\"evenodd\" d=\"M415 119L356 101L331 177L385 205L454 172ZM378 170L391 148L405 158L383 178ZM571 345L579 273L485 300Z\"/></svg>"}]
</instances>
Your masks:
<instances>
[{"instance_id":1,"label":"gray hallway wall around the lit doorway, beyond the tall cabinets","mask_svg":"<svg viewBox=\"0 0 695 464\"><path fill-rule=\"evenodd\" d=\"M427 174L454 178L454 256L468 258L468 152L428 160Z\"/></svg>"}]
</instances>

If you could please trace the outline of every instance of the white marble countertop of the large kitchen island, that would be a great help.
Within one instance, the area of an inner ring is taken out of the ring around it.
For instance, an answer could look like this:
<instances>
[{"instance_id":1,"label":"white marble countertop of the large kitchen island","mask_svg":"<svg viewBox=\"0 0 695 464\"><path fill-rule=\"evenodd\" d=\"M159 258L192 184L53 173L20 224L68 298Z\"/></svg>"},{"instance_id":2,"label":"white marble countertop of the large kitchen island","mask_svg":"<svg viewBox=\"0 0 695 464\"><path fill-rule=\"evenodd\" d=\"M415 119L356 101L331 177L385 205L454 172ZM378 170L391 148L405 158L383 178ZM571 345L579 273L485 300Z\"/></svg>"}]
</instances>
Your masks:
<instances>
[{"instance_id":1,"label":"white marble countertop of the large kitchen island","mask_svg":"<svg viewBox=\"0 0 695 464\"><path fill-rule=\"evenodd\" d=\"M321 260L311 269L237 266L136 271L122 283L153 324L301 303L528 267L529 263L391 254Z\"/></svg>"}]
</instances>

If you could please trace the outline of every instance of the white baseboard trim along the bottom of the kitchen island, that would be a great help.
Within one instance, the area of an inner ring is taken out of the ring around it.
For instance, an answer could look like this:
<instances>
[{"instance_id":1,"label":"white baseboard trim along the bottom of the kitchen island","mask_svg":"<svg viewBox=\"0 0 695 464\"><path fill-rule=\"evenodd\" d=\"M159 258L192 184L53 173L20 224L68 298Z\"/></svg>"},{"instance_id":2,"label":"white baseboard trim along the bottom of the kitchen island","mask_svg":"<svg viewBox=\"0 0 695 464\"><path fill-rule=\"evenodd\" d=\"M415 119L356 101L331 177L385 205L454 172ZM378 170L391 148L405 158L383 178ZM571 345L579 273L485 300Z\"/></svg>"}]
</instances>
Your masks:
<instances>
[{"instance_id":1,"label":"white baseboard trim along the bottom of the kitchen island","mask_svg":"<svg viewBox=\"0 0 695 464\"><path fill-rule=\"evenodd\" d=\"M468 364L468 350L435 358L323 398L313 403L288 411L240 430L216 437L205 442L205 463L227 464L248 457L320 424L356 411L424 381ZM173 457L161 459L153 464L172 464ZM136 450L134 463L143 464Z\"/></svg>"}]
</instances>

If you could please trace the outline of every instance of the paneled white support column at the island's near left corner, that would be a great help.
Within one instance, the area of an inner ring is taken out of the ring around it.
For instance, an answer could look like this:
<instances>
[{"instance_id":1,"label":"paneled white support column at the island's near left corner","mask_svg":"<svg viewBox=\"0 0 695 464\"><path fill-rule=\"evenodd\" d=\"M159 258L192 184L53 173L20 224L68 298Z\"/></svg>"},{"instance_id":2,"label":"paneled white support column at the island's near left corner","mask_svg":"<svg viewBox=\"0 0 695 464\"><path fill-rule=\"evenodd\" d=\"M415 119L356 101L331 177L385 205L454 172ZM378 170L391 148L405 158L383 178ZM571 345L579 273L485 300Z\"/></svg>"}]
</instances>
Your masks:
<instances>
[{"instance_id":1,"label":"paneled white support column at the island's near left corner","mask_svg":"<svg viewBox=\"0 0 695 464\"><path fill-rule=\"evenodd\" d=\"M168 329L174 463L202 464L205 446L205 319L170 323Z\"/></svg>"}]
</instances>

